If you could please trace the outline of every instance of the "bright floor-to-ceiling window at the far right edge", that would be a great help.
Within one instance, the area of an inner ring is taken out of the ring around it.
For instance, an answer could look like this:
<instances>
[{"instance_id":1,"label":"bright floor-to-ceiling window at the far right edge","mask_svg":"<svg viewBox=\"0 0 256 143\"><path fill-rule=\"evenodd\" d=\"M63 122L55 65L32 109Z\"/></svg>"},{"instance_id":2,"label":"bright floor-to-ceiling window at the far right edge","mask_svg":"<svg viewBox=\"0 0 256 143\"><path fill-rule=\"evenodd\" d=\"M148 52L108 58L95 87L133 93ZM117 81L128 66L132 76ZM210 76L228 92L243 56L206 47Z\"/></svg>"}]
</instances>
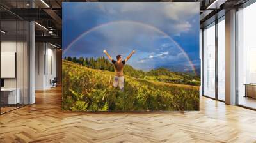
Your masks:
<instances>
[{"instance_id":1,"label":"bright floor-to-ceiling window at the far right edge","mask_svg":"<svg viewBox=\"0 0 256 143\"><path fill-rule=\"evenodd\" d=\"M237 102L256 109L256 3L237 11Z\"/></svg>"}]
</instances>

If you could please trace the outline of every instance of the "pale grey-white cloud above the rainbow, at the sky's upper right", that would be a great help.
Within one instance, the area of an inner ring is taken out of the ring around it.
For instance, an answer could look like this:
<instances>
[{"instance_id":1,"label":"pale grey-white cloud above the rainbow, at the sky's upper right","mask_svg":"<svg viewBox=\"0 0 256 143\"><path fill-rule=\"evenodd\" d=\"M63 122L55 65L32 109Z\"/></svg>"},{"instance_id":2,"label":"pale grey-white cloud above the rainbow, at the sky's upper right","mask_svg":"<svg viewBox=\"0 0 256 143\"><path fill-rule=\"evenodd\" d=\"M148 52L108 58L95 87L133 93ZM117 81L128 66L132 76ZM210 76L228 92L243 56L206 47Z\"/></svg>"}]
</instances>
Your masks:
<instances>
[{"instance_id":1,"label":"pale grey-white cloud above the rainbow, at the sky's upper right","mask_svg":"<svg viewBox=\"0 0 256 143\"><path fill-rule=\"evenodd\" d=\"M192 17L198 15L198 3L118 3L99 4L104 15L118 19L145 22L165 33L180 35L192 26ZM103 6L102 6L103 5ZM103 8L102 8L103 7ZM115 12L113 12L115 11ZM145 12L147 11L147 12Z\"/></svg>"}]
</instances>

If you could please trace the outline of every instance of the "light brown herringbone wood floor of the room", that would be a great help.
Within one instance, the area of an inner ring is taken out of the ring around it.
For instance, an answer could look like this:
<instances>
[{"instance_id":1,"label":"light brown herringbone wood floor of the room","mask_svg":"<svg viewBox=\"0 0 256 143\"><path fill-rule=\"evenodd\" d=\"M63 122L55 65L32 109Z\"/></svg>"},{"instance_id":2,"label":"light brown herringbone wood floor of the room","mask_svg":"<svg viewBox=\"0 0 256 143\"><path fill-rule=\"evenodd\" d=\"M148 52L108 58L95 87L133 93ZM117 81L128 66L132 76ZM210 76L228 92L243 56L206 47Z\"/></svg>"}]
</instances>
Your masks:
<instances>
[{"instance_id":1,"label":"light brown herringbone wood floor of the room","mask_svg":"<svg viewBox=\"0 0 256 143\"><path fill-rule=\"evenodd\" d=\"M202 97L184 114L69 113L59 87L0 116L0 142L256 142L256 112Z\"/></svg>"}]
</instances>

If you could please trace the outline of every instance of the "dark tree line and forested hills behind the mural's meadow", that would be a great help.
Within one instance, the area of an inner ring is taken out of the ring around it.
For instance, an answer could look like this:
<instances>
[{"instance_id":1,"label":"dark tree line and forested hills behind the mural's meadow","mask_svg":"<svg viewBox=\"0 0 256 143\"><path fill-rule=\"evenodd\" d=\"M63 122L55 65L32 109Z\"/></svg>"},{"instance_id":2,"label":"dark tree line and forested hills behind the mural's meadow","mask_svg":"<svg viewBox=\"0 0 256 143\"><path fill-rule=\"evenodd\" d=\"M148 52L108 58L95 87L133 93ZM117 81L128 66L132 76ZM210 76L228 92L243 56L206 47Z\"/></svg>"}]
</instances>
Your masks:
<instances>
[{"instance_id":1,"label":"dark tree line and forested hills behind the mural's meadow","mask_svg":"<svg viewBox=\"0 0 256 143\"><path fill-rule=\"evenodd\" d=\"M94 59L93 57L65 57L64 59L88 68L114 72L113 64L111 64L105 57L99 57L97 59ZM129 66L129 64L126 64L124 66L124 74L131 77L155 80L159 82L200 86L200 77L182 72L172 72L166 68L157 68L144 72L143 70L136 70L132 68L132 66Z\"/></svg>"}]
</instances>

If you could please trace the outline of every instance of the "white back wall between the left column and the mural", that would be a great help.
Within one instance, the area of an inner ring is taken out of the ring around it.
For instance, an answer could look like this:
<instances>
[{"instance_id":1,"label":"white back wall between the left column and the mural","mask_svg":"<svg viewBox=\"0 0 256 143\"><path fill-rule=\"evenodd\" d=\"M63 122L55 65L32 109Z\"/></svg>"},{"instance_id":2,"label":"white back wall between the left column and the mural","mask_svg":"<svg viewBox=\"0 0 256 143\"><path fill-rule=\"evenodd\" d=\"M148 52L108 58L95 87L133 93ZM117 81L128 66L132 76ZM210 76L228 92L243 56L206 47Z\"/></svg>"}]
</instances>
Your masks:
<instances>
[{"instance_id":1,"label":"white back wall between the left column and the mural","mask_svg":"<svg viewBox=\"0 0 256 143\"><path fill-rule=\"evenodd\" d=\"M49 43L36 43L35 54L35 89L49 89L56 77L56 49Z\"/></svg>"}]
</instances>

